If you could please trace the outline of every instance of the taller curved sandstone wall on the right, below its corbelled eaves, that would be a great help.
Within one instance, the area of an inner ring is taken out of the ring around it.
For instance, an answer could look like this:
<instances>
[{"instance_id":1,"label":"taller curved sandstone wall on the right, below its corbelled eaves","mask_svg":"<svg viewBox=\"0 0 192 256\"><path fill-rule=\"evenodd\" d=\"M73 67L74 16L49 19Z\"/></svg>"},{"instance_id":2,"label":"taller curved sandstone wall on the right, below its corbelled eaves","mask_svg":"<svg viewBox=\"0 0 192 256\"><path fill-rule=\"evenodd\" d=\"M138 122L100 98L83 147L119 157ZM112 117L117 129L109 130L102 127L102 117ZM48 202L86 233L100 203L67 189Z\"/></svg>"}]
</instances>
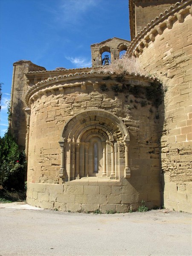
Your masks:
<instances>
[{"instance_id":1,"label":"taller curved sandstone wall on the right, below its corbelled eaves","mask_svg":"<svg viewBox=\"0 0 192 256\"><path fill-rule=\"evenodd\" d=\"M138 59L164 85L165 109L160 114L163 204L192 211L192 18L190 6L177 19L148 37ZM172 16L174 17L174 16ZM150 32L149 32L150 33ZM147 35L145 35L147 37ZM138 44L142 42L142 39ZM138 49L138 48L137 48ZM136 52L138 53L138 52Z\"/></svg>"}]
</instances>

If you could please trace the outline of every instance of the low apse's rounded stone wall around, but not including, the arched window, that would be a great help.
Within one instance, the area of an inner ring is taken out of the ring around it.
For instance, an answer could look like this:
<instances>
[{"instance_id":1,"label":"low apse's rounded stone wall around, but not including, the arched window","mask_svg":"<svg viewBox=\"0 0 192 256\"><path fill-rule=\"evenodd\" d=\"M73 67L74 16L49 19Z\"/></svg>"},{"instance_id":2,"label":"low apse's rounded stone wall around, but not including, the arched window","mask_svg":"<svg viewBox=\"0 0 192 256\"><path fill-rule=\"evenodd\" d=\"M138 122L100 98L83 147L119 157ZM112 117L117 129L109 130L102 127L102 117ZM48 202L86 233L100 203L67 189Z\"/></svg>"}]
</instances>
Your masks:
<instances>
[{"instance_id":1,"label":"low apse's rounded stone wall around, but not including, the arched window","mask_svg":"<svg viewBox=\"0 0 192 256\"><path fill-rule=\"evenodd\" d=\"M107 76L107 75L105 75ZM81 76L80 76L81 77ZM126 80L125 87L142 87L140 93L124 88L115 92L115 77L103 80L91 77L85 87L75 86L79 79L59 82L31 96L28 192L32 205L71 211L101 209L126 212L137 209L141 200L152 208L160 206L160 162L157 127L160 120L152 102L145 99L145 86L150 82ZM67 84L68 85L67 85ZM99 86L98 84L102 84ZM108 91L102 91L104 84ZM143 87L144 86L144 87ZM54 88L54 90L53 90ZM59 178L61 151L58 141L64 124L74 114L87 109L103 109L122 119L130 134L129 167L131 178L110 180L84 177L63 183ZM67 208L66 208L67 207Z\"/></svg>"}]
</instances>

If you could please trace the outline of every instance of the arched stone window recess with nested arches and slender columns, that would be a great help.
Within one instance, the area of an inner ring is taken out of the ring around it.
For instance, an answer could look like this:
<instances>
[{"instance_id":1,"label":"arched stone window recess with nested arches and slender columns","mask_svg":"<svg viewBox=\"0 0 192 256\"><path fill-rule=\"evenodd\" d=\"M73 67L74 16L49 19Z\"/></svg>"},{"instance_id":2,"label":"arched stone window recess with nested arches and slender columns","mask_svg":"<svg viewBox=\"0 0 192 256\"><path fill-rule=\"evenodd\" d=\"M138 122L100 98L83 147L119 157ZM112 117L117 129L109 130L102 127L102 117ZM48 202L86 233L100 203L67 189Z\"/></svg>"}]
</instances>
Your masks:
<instances>
[{"instance_id":1,"label":"arched stone window recess with nested arches and slender columns","mask_svg":"<svg viewBox=\"0 0 192 256\"><path fill-rule=\"evenodd\" d=\"M129 134L116 115L88 110L73 116L64 126L60 140L59 177L130 177Z\"/></svg>"}]
</instances>

